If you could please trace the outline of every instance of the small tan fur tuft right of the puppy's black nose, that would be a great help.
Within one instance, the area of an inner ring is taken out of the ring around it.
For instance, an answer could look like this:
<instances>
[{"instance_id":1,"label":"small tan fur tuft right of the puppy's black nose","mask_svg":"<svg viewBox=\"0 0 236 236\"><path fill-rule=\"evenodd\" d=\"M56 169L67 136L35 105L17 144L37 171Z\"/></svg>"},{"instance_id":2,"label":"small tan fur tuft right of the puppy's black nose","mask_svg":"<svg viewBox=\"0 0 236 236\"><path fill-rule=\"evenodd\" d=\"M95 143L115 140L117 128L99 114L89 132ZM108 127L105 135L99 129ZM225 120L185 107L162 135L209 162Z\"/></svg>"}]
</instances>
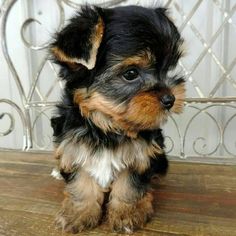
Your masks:
<instances>
[{"instance_id":1,"label":"small tan fur tuft right of the puppy's black nose","mask_svg":"<svg viewBox=\"0 0 236 236\"><path fill-rule=\"evenodd\" d=\"M184 83L179 84L171 89L172 94L175 96L174 106L171 108L171 112L181 113L184 108L184 100L185 100L185 85Z\"/></svg>"}]
</instances>

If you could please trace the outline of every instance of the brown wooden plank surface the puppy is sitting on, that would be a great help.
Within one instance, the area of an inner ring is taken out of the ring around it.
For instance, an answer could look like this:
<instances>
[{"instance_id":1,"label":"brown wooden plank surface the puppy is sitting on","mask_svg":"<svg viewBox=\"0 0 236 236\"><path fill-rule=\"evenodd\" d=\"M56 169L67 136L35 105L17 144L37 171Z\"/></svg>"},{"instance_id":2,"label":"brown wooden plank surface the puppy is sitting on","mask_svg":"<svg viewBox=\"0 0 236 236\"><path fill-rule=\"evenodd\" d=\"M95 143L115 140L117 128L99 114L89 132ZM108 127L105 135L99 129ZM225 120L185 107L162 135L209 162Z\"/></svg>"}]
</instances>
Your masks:
<instances>
[{"instance_id":1,"label":"brown wooden plank surface the puppy is sitting on","mask_svg":"<svg viewBox=\"0 0 236 236\"><path fill-rule=\"evenodd\" d=\"M54 229L63 183L47 154L0 152L0 235L67 235ZM153 183L155 217L133 235L236 235L236 166L171 162ZM118 235L106 225L80 235Z\"/></svg>"}]
</instances>

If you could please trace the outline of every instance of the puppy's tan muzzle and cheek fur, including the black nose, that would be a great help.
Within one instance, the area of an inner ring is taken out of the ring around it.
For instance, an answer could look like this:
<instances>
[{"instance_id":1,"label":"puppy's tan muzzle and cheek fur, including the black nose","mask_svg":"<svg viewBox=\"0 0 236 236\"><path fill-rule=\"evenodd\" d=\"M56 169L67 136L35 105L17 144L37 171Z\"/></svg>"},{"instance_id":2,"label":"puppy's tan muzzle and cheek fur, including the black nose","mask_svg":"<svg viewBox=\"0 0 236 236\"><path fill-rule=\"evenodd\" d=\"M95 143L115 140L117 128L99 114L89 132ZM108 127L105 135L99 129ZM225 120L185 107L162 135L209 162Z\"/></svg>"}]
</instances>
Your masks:
<instances>
[{"instance_id":1,"label":"puppy's tan muzzle and cheek fur, including the black nose","mask_svg":"<svg viewBox=\"0 0 236 236\"><path fill-rule=\"evenodd\" d=\"M158 96L154 91L140 92L128 103L115 104L102 94L76 90L74 103L80 106L84 117L106 132L124 132L136 137L142 130L159 128L171 113L181 113L184 107L185 87L179 84L170 93Z\"/></svg>"}]
</instances>

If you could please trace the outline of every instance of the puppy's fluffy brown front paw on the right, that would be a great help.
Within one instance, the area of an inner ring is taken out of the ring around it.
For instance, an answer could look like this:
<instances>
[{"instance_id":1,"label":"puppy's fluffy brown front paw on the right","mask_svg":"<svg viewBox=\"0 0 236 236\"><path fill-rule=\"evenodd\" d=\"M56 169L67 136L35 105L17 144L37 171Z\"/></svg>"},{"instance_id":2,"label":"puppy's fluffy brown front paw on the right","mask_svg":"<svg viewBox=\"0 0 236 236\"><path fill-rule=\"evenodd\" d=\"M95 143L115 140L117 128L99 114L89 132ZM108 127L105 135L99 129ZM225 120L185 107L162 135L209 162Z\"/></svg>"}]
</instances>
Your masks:
<instances>
[{"instance_id":1,"label":"puppy's fluffy brown front paw on the right","mask_svg":"<svg viewBox=\"0 0 236 236\"><path fill-rule=\"evenodd\" d=\"M107 217L113 231L132 233L135 229L142 228L152 214L152 202L147 195L133 204L113 200L109 205Z\"/></svg>"}]
</instances>

